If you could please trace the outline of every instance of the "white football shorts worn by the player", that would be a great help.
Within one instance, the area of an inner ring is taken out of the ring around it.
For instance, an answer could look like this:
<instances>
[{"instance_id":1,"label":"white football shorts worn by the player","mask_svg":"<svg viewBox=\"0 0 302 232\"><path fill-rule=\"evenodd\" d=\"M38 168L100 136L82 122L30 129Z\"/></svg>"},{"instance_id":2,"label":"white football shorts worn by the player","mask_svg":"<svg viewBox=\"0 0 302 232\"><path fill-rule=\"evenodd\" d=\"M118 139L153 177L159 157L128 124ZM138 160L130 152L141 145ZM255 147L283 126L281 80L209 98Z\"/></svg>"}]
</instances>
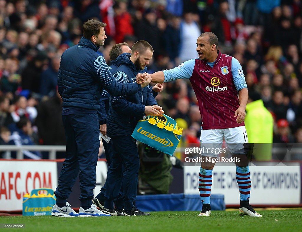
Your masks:
<instances>
[{"instance_id":1,"label":"white football shorts worn by the player","mask_svg":"<svg viewBox=\"0 0 302 232\"><path fill-rule=\"evenodd\" d=\"M202 153L202 156L218 156L220 152L213 153L213 148L215 151L218 151L222 146L223 138L232 154L246 153L244 144L248 143L248 138L245 126L209 130L201 128L201 148L204 148L203 150L205 151Z\"/></svg>"}]
</instances>

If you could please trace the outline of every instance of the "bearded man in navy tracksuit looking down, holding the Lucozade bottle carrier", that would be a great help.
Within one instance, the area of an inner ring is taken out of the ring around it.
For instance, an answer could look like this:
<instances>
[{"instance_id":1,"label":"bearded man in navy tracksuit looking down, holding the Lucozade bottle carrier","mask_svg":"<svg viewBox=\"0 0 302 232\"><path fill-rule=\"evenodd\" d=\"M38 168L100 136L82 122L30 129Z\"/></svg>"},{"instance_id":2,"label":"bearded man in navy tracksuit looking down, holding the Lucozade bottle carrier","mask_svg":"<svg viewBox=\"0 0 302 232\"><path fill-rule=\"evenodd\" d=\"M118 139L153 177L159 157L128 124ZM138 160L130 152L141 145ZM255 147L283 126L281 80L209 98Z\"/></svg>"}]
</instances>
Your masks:
<instances>
[{"instance_id":1,"label":"bearded man in navy tracksuit looking down, holding the Lucozade bottle carrier","mask_svg":"<svg viewBox=\"0 0 302 232\"><path fill-rule=\"evenodd\" d=\"M121 54L117 58L118 68L114 77L118 82L136 82L137 74L146 72L146 65L149 64L152 55L153 48L148 42L144 40L136 42L132 47L132 54ZM107 172L103 212L117 216L113 200L119 194L122 185L124 215L150 215L133 205L137 193L140 160L136 141L131 134L144 114L162 116L162 113L164 112L157 105L149 86L132 95L111 96L107 135L113 142L113 154ZM122 166L124 166L123 171Z\"/></svg>"}]
</instances>

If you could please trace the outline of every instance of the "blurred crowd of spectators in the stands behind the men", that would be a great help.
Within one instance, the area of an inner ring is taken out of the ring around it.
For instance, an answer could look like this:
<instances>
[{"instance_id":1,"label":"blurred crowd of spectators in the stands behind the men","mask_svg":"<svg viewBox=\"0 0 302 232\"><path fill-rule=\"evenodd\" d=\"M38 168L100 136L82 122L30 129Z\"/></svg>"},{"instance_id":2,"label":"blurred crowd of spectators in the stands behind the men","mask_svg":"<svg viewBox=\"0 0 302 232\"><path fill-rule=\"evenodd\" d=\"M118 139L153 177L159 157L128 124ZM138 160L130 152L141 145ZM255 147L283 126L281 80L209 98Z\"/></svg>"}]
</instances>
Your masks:
<instances>
[{"instance_id":1,"label":"blurred crowd of spectators in the stands behind the men","mask_svg":"<svg viewBox=\"0 0 302 232\"><path fill-rule=\"evenodd\" d=\"M146 40L149 73L196 58L198 36L214 32L241 63L250 101L262 99L273 116L274 142L302 143L302 0L0 0L0 144L65 145L60 57L92 18L107 23L98 52L108 65L114 44ZM164 83L156 100L184 128L182 144L199 144L190 82Z\"/></svg>"}]
</instances>

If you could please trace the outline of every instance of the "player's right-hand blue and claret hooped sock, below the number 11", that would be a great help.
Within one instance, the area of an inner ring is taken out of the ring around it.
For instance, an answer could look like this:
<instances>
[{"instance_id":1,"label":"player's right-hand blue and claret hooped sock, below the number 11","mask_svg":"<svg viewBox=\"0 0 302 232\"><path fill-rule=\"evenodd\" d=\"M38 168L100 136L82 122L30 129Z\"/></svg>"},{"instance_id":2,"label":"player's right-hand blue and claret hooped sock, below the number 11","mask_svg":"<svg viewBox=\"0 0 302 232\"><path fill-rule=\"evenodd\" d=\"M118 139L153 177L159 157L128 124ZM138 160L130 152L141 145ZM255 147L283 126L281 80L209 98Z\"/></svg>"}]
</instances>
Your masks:
<instances>
[{"instance_id":1,"label":"player's right-hand blue and claret hooped sock, below the number 11","mask_svg":"<svg viewBox=\"0 0 302 232\"><path fill-rule=\"evenodd\" d=\"M251 178L249 166L238 167L236 166L236 180L239 187L240 201L247 201L251 193Z\"/></svg>"}]
</instances>

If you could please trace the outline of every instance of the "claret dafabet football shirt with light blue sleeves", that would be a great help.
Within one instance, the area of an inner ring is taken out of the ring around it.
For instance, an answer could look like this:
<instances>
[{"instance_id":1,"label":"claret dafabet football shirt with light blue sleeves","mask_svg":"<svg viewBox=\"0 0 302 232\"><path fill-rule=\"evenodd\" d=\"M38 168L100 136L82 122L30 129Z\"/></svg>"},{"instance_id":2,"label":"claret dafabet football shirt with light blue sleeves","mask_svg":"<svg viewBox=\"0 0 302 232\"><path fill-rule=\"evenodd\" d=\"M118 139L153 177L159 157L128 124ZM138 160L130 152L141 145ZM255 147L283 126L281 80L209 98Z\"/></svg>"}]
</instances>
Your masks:
<instances>
[{"instance_id":1,"label":"claret dafabet football shirt with light blue sleeves","mask_svg":"<svg viewBox=\"0 0 302 232\"><path fill-rule=\"evenodd\" d=\"M239 107L238 91L247 88L238 60L218 53L217 60L207 63L191 59L178 67L163 71L165 82L189 79L202 118L202 129L223 129L243 126L234 117Z\"/></svg>"}]
</instances>

